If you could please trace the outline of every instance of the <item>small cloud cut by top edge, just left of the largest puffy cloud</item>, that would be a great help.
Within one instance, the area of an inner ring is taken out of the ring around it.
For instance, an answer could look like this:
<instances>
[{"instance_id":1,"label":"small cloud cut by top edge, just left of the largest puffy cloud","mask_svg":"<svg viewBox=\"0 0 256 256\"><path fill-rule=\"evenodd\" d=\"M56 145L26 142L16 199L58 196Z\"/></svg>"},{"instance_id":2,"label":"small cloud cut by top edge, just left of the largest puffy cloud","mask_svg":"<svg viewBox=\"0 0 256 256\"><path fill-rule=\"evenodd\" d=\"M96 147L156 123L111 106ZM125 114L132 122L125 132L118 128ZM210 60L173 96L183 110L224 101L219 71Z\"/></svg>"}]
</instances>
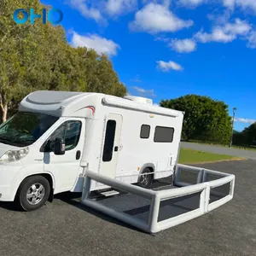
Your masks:
<instances>
[{"instance_id":1,"label":"small cloud cut by top edge, just left of the largest puffy cloud","mask_svg":"<svg viewBox=\"0 0 256 256\"><path fill-rule=\"evenodd\" d=\"M105 11L108 15L121 15L137 7L137 0L108 0Z\"/></svg>"}]
</instances>

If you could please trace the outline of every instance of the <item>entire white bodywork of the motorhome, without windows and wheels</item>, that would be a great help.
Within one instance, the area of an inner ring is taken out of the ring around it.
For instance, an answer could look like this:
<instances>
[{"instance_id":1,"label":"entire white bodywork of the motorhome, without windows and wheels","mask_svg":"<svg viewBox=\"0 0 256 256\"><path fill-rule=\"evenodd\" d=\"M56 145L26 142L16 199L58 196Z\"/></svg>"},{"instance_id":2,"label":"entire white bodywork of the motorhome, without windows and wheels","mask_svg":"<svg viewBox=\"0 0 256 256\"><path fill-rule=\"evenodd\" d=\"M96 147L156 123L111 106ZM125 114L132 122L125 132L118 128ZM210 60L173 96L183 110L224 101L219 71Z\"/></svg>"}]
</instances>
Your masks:
<instances>
[{"instance_id":1,"label":"entire white bodywork of the motorhome, without windows and wheels","mask_svg":"<svg viewBox=\"0 0 256 256\"><path fill-rule=\"evenodd\" d=\"M137 183L139 174L146 167L151 168L157 179L172 175L177 164L182 112L115 96L52 91L38 91L26 96L19 110L49 114L59 119L29 146L25 158L7 164L0 161L0 201L13 201L22 180L35 174L49 174L57 194L68 190L82 192L82 175L87 170L125 183ZM116 121L113 154L110 161L104 162L105 131L111 119ZM76 148L64 155L40 152L49 136L67 120L82 123ZM140 137L142 125L150 126L147 139ZM156 126L174 129L172 143L154 143ZM117 151L114 151L115 147ZM12 148L0 143L0 157ZM79 160L76 159L78 151L81 152ZM102 188L101 183L92 183L90 189Z\"/></svg>"}]
</instances>

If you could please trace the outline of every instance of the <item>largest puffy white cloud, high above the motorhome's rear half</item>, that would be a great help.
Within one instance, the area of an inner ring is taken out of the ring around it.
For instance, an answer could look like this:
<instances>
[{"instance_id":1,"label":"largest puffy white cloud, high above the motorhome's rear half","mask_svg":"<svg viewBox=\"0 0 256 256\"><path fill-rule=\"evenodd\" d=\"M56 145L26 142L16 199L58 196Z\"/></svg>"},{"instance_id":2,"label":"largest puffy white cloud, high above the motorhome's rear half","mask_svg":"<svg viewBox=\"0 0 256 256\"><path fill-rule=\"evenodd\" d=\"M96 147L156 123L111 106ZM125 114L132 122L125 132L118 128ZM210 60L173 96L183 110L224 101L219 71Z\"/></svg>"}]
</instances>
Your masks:
<instances>
[{"instance_id":1,"label":"largest puffy white cloud, high above the motorhome's rear half","mask_svg":"<svg viewBox=\"0 0 256 256\"><path fill-rule=\"evenodd\" d=\"M130 28L134 31L157 33L176 32L192 25L192 20L181 20L164 5L148 3L137 11Z\"/></svg>"}]
</instances>

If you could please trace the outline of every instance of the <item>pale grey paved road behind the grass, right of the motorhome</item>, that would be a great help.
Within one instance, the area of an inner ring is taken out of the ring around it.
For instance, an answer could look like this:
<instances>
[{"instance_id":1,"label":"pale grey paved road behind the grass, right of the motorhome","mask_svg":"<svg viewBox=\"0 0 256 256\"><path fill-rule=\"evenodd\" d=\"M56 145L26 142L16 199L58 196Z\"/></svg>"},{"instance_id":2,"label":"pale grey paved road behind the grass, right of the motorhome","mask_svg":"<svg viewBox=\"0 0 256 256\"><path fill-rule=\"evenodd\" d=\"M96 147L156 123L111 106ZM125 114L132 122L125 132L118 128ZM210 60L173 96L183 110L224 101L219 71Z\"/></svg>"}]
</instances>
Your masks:
<instances>
[{"instance_id":1,"label":"pale grey paved road behind the grass, right of the motorhome","mask_svg":"<svg viewBox=\"0 0 256 256\"><path fill-rule=\"evenodd\" d=\"M199 143L181 143L181 147L207 151L215 154L234 155L234 156L239 156L246 159L256 160L256 150L243 150L243 149L236 149L236 148L218 147L218 146L199 144Z\"/></svg>"}]
</instances>

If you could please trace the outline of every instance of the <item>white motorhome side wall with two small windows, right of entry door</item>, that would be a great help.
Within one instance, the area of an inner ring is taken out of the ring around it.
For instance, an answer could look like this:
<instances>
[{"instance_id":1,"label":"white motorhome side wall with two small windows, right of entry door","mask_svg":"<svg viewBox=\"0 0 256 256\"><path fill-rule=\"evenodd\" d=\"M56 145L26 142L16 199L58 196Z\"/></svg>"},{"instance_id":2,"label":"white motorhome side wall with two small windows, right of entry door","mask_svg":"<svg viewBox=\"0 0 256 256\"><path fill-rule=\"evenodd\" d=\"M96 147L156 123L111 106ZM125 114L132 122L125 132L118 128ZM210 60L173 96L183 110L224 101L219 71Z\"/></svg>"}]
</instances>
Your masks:
<instances>
[{"instance_id":1,"label":"white motorhome side wall with two small windows, right of entry door","mask_svg":"<svg viewBox=\"0 0 256 256\"><path fill-rule=\"evenodd\" d=\"M129 110L126 111L128 112ZM117 166L118 179L124 182L128 181L128 179L131 180L131 183L137 182L137 169L143 166L152 166L154 168L154 178L170 176L177 158L180 141L180 133L178 131L182 128L181 120L160 115L150 117L148 113L140 112L131 113L131 116L126 113L124 115L120 142L122 149L119 152ZM150 125L148 139L140 138L142 125ZM157 125L175 128L177 133L174 134L172 143L154 143L154 129ZM170 164L171 157L172 165Z\"/></svg>"}]
</instances>

